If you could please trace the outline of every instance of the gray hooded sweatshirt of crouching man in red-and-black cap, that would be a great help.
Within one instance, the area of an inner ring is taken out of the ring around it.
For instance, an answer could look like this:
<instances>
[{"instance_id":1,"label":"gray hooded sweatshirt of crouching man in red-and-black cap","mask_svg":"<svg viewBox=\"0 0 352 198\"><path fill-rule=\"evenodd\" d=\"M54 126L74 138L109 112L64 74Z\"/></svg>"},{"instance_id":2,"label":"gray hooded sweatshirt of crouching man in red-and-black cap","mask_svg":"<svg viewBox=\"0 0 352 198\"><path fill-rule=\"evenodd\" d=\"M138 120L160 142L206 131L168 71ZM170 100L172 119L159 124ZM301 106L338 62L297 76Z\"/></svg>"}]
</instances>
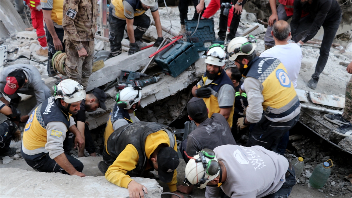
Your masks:
<instances>
[{"instance_id":1,"label":"gray hooded sweatshirt of crouching man in red-and-black cap","mask_svg":"<svg viewBox=\"0 0 352 198\"><path fill-rule=\"evenodd\" d=\"M17 89L17 91L13 94L13 97L11 97L12 96L11 95L10 98L17 98L15 96L17 95L17 93L34 95L37 100L37 105L36 105L37 107L38 105L42 104L44 100L51 97L50 89L48 86L44 84L44 81L42 80L42 77L40 76L40 73L36 67L30 64L14 64L14 65L5 67L4 69L1 70L0 98L4 96L3 94L5 94L4 87L6 86L7 75L16 69L23 69L24 73L26 74L28 82L24 85L24 87ZM36 107L34 107L33 110ZM32 111L29 113L29 115L32 113Z\"/></svg>"}]
</instances>

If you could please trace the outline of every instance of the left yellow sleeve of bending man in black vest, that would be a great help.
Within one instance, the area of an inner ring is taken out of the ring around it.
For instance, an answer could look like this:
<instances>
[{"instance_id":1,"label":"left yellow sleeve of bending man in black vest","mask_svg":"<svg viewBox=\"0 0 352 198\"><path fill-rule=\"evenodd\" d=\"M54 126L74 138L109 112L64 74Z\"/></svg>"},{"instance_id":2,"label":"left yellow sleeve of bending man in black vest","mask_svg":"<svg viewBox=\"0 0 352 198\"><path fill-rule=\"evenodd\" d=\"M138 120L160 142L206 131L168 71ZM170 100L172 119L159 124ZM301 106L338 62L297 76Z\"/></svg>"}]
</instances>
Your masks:
<instances>
[{"instance_id":1,"label":"left yellow sleeve of bending man in black vest","mask_svg":"<svg viewBox=\"0 0 352 198\"><path fill-rule=\"evenodd\" d=\"M117 186L127 188L128 184L130 184L133 179L131 179L129 175L126 175L126 173L127 171L131 171L136 168L138 158L139 155L137 149L132 144L127 144L126 148L120 153L114 163L106 171L106 180Z\"/></svg>"}]
</instances>

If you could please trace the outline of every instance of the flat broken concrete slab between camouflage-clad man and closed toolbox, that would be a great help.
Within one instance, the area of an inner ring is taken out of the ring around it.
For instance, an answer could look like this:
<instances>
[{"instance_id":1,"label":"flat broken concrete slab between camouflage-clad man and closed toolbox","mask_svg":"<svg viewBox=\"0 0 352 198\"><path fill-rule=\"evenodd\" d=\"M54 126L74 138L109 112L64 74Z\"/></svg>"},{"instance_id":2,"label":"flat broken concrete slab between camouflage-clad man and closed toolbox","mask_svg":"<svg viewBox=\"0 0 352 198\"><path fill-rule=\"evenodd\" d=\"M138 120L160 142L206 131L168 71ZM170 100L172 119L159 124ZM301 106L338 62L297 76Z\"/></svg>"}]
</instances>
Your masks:
<instances>
[{"instance_id":1,"label":"flat broken concrete slab between camouflage-clad man and closed toolbox","mask_svg":"<svg viewBox=\"0 0 352 198\"><path fill-rule=\"evenodd\" d=\"M157 47L150 47L132 55L128 55L125 52L109 58L104 62L105 66L103 68L90 75L87 91L115 80L121 74L121 70L137 71L141 67L144 67L149 62L148 56L156 50Z\"/></svg>"}]
</instances>

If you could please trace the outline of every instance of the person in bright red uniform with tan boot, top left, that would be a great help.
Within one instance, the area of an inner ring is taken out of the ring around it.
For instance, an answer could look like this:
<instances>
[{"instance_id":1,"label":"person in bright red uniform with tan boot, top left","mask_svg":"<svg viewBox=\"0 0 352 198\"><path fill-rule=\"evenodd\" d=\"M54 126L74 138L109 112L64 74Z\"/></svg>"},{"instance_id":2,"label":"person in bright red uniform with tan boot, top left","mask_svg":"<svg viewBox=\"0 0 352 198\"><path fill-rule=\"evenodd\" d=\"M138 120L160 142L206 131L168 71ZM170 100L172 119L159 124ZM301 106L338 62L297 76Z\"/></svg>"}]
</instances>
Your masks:
<instances>
[{"instance_id":1,"label":"person in bright red uniform with tan boot, top left","mask_svg":"<svg viewBox=\"0 0 352 198\"><path fill-rule=\"evenodd\" d=\"M25 0L25 2L31 9L32 25L34 29L37 30L38 41L40 46L42 46L42 48L37 50L36 53L40 56L48 57L48 47L46 45L43 12L42 6L40 5L40 0Z\"/></svg>"}]
</instances>

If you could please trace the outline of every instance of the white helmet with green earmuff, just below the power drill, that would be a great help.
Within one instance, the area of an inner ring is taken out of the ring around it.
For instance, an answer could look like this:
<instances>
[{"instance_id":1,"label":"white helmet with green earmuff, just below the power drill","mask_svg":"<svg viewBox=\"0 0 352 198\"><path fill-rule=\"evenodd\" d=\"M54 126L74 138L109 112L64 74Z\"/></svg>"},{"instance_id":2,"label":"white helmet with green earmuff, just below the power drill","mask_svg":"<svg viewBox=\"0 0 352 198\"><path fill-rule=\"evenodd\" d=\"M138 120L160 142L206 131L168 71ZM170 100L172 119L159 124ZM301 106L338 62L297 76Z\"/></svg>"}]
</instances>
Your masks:
<instances>
[{"instance_id":1,"label":"white helmet with green earmuff, just below the power drill","mask_svg":"<svg viewBox=\"0 0 352 198\"><path fill-rule=\"evenodd\" d=\"M122 109L131 109L142 98L142 92L133 87L126 87L116 94L117 105Z\"/></svg>"}]
</instances>

